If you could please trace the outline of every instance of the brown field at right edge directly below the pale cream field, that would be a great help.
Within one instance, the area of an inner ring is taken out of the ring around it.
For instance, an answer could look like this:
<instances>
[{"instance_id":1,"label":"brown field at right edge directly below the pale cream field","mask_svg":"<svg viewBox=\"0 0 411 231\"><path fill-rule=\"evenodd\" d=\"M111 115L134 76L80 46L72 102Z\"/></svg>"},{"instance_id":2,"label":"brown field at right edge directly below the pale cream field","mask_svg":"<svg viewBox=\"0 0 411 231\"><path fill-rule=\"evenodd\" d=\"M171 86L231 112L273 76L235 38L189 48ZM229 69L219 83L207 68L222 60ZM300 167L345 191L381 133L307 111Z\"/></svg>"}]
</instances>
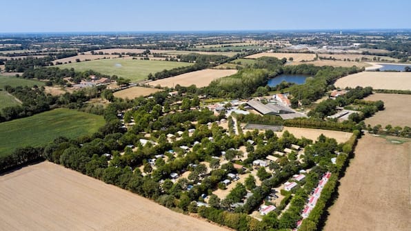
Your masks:
<instances>
[{"instance_id":1,"label":"brown field at right edge directly below the pale cream field","mask_svg":"<svg viewBox=\"0 0 411 231\"><path fill-rule=\"evenodd\" d=\"M385 128L390 124L411 127L411 95L410 94L372 94L365 100L384 102L385 110L379 111L373 117L365 119L365 124L372 126L380 124Z\"/></svg>"}]
</instances>

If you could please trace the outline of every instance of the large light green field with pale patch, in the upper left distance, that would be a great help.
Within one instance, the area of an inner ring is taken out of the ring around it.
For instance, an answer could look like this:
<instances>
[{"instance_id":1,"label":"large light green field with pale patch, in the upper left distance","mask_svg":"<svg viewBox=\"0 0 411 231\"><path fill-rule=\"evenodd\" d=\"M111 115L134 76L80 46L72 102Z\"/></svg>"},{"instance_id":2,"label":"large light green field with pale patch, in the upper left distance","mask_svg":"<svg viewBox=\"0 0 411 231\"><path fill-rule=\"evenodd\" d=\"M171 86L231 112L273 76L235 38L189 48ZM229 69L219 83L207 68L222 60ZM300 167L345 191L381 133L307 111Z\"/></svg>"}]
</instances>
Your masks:
<instances>
[{"instance_id":1,"label":"large light green field with pale patch, in the upper left distance","mask_svg":"<svg viewBox=\"0 0 411 231\"><path fill-rule=\"evenodd\" d=\"M99 59L93 61L83 61L80 63L67 63L58 68L74 68L77 71L95 70L102 74L113 75L130 79L131 81L139 81L146 79L151 72L160 72L164 69L179 68L190 66L193 63L179 63L174 61L155 61L155 60L140 60L140 59Z\"/></svg>"}]
</instances>

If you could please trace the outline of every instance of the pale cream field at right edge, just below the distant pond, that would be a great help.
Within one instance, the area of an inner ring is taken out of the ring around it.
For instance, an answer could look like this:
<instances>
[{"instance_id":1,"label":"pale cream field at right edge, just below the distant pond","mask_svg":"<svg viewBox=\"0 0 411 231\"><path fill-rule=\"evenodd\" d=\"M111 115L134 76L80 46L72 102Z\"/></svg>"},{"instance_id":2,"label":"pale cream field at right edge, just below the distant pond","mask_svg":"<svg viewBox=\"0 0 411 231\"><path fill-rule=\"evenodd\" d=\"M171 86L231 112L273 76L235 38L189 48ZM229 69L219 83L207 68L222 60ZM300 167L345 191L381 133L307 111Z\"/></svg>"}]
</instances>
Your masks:
<instances>
[{"instance_id":1,"label":"pale cream field at right edge, just below the distant pond","mask_svg":"<svg viewBox=\"0 0 411 231\"><path fill-rule=\"evenodd\" d=\"M359 72L338 79L337 88L370 86L374 89L411 90L411 72Z\"/></svg>"}]
</instances>

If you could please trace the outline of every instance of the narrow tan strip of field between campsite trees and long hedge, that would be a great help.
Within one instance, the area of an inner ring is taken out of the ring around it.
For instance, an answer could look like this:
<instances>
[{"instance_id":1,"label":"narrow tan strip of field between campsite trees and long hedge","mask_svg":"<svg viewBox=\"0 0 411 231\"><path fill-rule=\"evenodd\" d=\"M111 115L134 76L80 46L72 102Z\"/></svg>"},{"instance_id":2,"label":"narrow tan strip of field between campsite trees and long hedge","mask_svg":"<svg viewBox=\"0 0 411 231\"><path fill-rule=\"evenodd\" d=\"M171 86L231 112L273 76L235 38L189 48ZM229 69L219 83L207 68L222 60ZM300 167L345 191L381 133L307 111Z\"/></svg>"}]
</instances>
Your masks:
<instances>
[{"instance_id":1,"label":"narrow tan strip of field between campsite trees and long hedge","mask_svg":"<svg viewBox=\"0 0 411 231\"><path fill-rule=\"evenodd\" d=\"M274 132L277 134L277 137L281 137L283 132L288 130L294 137L301 138L305 137L307 139L312 139L313 141L317 141L317 138L324 134L325 137L334 138L337 140L337 143L344 143L350 139L352 134L350 132L339 132L339 131L332 131L332 130L321 130L321 129L312 129L312 128L294 128L294 127L284 127L282 132Z\"/></svg>"}]
</instances>

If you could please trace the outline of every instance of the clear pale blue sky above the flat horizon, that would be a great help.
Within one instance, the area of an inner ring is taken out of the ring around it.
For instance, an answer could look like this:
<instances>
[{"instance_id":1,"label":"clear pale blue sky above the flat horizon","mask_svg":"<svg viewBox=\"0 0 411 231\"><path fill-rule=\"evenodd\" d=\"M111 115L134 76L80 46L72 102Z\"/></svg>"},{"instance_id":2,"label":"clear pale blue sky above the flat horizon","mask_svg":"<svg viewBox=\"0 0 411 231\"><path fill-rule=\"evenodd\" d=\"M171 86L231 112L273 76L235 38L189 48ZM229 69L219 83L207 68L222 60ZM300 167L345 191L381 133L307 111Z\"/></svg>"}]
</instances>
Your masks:
<instances>
[{"instance_id":1,"label":"clear pale blue sky above the flat horizon","mask_svg":"<svg viewBox=\"0 0 411 231\"><path fill-rule=\"evenodd\" d=\"M11 0L0 33L411 28L409 0Z\"/></svg>"}]
</instances>

